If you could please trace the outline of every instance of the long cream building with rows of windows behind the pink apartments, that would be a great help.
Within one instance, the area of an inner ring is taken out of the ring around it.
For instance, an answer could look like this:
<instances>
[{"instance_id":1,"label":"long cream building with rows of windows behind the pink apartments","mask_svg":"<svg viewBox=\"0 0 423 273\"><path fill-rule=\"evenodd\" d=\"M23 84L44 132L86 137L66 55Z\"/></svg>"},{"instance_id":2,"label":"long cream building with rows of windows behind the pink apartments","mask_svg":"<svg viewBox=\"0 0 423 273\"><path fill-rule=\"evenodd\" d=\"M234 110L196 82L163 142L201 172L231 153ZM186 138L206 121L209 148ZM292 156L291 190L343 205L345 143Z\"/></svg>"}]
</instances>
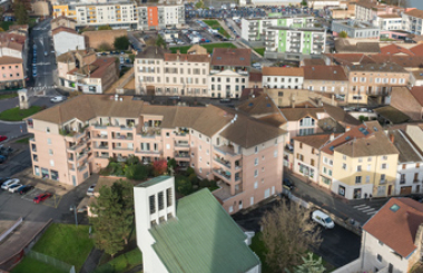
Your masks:
<instances>
[{"instance_id":1,"label":"long cream building with rows of windows behind the pink apartments","mask_svg":"<svg viewBox=\"0 0 423 273\"><path fill-rule=\"evenodd\" d=\"M147 47L135 59L137 94L209 97L210 56Z\"/></svg>"}]
</instances>

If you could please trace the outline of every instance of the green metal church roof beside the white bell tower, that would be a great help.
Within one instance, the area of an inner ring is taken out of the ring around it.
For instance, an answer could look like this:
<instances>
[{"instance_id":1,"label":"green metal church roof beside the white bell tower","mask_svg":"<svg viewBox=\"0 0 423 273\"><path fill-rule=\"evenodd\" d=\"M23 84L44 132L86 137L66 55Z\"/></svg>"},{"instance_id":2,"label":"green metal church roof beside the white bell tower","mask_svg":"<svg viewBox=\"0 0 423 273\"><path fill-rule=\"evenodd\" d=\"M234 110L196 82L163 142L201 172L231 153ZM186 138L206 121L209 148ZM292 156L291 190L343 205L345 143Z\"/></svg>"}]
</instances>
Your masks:
<instances>
[{"instance_id":1,"label":"green metal church roof beside the white bell tower","mask_svg":"<svg viewBox=\"0 0 423 273\"><path fill-rule=\"evenodd\" d=\"M150 228L153 247L169 273L240 273L260 263L207 188L179 199L176 214Z\"/></svg>"}]
</instances>

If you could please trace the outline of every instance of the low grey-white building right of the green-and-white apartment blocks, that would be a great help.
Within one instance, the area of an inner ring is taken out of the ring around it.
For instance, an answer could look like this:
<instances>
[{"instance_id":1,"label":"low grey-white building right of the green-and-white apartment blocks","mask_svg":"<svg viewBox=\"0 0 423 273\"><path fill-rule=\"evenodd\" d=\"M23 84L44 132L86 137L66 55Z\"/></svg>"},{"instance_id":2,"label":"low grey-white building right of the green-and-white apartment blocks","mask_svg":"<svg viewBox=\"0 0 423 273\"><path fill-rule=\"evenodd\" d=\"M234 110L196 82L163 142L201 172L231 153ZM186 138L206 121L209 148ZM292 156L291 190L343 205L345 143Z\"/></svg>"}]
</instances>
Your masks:
<instances>
[{"instance_id":1,"label":"low grey-white building right of the green-and-white apartment blocks","mask_svg":"<svg viewBox=\"0 0 423 273\"><path fill-rule=\"evenodd\" d=\"M332 21L332 31L338 36L345 31L348 38L355 39L378 39L381 29L376 23L363 22L353 19Z\"/></svg>"}]
</instances>

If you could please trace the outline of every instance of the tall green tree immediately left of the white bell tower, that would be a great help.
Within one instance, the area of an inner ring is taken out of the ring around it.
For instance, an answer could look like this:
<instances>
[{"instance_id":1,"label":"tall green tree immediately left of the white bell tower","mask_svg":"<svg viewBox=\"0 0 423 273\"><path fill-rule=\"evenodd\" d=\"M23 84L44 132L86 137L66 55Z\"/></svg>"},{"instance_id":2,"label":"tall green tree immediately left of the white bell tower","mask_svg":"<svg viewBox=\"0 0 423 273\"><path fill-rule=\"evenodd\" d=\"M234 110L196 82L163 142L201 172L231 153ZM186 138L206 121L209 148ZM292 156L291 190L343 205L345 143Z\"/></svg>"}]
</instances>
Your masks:
<instances>
[{"instance_id":1,"label":"tall green tree immediately left of the white bell tower","mask_svg":"<svg viewBox=\"0 0 423 273\"><path fill-rule=\"evenodd\" d=\"M95 245L114 256L124 248L119 223L122 205L119 203L118 193L111 187L104 186L99 193L90 208L97 217L89 220L95 231Z\"/></svg>"}]
</instances>

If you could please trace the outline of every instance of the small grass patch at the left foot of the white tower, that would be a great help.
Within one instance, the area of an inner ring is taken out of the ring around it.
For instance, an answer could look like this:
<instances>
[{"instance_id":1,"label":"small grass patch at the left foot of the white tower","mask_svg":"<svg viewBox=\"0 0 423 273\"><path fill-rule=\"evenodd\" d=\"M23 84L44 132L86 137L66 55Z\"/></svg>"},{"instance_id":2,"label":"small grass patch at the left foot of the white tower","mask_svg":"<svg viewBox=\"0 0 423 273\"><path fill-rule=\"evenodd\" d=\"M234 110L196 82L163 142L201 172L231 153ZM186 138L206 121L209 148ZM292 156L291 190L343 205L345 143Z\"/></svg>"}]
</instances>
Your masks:
<instances>
[{"instance_id":1,"label":"small grass patch at the left foot of the white tower","mask_svg":"<svg viewBox=\"0 0 423 273\"><path fill-rule=\"evenodd\" d=\"M95 273L102 273L102 272L126 272L136 265L142 264L142 253L135 248L130 252L127 252L125 254L121 254L114 260L109 261L106 264L102 264L98 266L95 271Z\"/></svg>"}]
</instances>

